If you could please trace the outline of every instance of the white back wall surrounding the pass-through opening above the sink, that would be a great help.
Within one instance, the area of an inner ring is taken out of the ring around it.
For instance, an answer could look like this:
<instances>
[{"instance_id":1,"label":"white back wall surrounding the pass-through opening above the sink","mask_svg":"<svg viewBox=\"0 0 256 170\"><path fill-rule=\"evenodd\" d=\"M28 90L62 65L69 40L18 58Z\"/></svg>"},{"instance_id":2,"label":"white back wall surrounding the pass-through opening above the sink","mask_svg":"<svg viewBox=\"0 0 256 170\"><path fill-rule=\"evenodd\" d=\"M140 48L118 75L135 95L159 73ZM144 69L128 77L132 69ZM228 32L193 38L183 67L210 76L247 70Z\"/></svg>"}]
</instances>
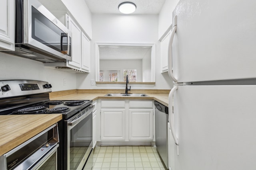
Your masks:
<instances>
[{"instance_id":1,"label":"white back wall surrounding the pass-through opening above the sink","mask_svg":"<svg viewBox=\"0 0 256 170\"><path fill-rule=\"evenodd\" d=\"M91 72L77 75L78 89L124 88L123 86L92 86L95 80L95 43L155 43L156 44L156 84L146 89L170 89L171 79L160 73L160 50L158 45L158 15L117 15L92 14ZM138 87L136 87L138 88ZM134 88L135 89L135 88Z\"/></svg>"}]
</instances>

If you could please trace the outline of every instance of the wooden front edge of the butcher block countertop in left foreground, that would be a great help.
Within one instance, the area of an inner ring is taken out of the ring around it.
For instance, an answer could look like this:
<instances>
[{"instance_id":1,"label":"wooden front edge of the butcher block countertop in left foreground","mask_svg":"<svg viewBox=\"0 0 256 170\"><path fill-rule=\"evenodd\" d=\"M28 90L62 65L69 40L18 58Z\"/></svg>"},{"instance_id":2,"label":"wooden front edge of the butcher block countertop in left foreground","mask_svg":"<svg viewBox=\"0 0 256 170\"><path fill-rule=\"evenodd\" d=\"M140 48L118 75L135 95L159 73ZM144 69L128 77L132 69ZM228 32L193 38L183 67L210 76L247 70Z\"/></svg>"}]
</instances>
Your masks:
<instances>
[{"instance_id":1,"label":"wooden front edge of the butcher block countertop in left foreground","mask_svg":"<svg viewBox=\"0 0 256 170\"><path fill-rule=\"evenodd\" d=\"M16 115L16 116L19 116L19 115ZM20 115L20 116L25 116L25 115ZM42 119L42 118L39 117L37 119ZM44 131L45 129L47 129L54 123L57 123L61 119L62 119L62 115L56 114L56 116L53 117L52 119L50 119L49 121L41 121L41 123L38 123L37 126L33 126L28 131L26 131L24 133L21 132L19 136L15 136L13 139L6 141L2 145L0 145L0 156L5 154L8 151L14 149L15 147L19 146L20 144L24 143L28 139L34 137L38 133ZM38 122L40 122L40 121L38 121Z\"/></svg>"}]
</instances>

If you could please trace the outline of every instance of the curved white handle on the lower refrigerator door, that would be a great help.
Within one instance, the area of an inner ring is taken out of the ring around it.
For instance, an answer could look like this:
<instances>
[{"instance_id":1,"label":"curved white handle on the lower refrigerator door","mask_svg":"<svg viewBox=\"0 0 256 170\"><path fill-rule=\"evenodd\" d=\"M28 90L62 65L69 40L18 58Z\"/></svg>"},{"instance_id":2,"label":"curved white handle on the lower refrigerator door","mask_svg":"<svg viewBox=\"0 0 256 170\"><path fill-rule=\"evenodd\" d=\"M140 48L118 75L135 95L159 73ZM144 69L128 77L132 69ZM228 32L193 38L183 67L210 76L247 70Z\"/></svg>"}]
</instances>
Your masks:
<instances>
[{"instance_id":1,"label":"curved white handle on the lower refrigerator door","mask_svg":"<svg viewBox=\"0 0 256 170\"><path fill-rule=\"evenodd\" d=\"M174 86L172 90L169 93L169 100L168 100L168 112L169 112L169 123L170 123L170 130L172 132L172 137L174 139L174 142L176 145L179 145L178 137L176 135L175 129L174 129L174 120L173 120L173 109L172 109L172 99L174 92L178 89L178 86Z\"/></svg>"}]
</instances>

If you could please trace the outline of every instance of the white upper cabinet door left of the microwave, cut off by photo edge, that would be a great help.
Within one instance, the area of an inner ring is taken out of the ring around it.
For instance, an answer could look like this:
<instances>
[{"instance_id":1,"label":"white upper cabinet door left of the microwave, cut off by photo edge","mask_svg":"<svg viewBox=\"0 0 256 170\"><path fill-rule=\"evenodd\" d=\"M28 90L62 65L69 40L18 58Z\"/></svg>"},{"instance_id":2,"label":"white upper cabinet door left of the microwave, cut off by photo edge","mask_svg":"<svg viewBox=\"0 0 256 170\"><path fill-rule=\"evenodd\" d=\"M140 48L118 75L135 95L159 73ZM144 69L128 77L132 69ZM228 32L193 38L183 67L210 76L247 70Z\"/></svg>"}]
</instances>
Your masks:
<instances>
[{"instance_id":1,"label":"white upper cabinet door left of the microwave, cut off by photo edge","mask_svg":"<svg viewBox=\"0 0 256 170\"><path fill-rule=\"evenodd\" d=\"M1 0L0 5L0 50L14 51L14 21L15 21L15 2L14 0Z\"/></svg>"}]
</instances>

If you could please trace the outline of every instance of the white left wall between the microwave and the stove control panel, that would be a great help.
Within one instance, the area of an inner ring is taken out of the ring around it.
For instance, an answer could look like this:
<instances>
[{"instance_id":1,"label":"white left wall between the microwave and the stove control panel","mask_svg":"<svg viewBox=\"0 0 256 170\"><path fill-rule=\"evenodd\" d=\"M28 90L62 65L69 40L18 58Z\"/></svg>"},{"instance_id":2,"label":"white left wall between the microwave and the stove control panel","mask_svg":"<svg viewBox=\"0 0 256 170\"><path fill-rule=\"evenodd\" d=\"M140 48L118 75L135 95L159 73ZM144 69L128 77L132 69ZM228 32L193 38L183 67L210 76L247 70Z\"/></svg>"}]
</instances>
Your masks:
<instances>
[{"instance_id":1,"label":"white left wall between the microwave and the stove control panel","mask_svg":"<svg viewBox=\"0 0 256 170\"><path fill-rule=\"evenodd\" d=\"M66 86L63 79L66 79ZM76 89L76 74L44 67L38 61L0 53L0 80L42 80L52 84L52 91Z\"/></svg>"}]
</instances>

